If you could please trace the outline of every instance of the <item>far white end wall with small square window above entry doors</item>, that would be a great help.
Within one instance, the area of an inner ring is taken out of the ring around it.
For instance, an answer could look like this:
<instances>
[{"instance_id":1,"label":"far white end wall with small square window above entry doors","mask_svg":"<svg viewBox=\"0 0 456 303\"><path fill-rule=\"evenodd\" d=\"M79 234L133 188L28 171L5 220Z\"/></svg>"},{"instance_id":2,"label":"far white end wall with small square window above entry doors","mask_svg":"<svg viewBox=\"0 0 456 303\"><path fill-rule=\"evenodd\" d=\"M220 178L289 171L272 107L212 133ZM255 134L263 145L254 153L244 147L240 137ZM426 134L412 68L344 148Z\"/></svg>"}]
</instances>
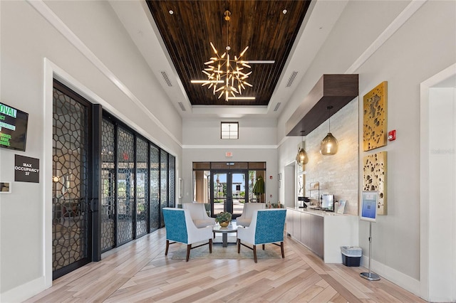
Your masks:
<instances>
[{"instance_id":1,"label":"far white end wall with small square window above entry doors","mask_svg":"<svg viewBox=\"0 0 456 303\"><path fill-rule=\"evenodd\" d=\"M222 121L239 122L239 139L220 139ZM280 201L275 119L184 119L183 124L182 178L185 191L182 201L189 201L192 197L192 163L200 161L266 162L266 201ZM226 151L232 151L232 156L226 157Z\"/></svg>"}]
</instances>

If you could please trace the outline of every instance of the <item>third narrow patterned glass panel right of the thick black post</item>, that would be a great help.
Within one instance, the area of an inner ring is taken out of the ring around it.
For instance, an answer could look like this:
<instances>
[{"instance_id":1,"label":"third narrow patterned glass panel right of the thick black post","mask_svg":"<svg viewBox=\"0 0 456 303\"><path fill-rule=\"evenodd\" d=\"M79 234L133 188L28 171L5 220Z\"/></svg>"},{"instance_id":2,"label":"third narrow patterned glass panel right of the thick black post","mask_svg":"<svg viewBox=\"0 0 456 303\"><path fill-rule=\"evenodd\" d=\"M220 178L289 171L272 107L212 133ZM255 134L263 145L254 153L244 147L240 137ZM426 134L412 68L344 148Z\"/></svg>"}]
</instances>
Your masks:
<instances>
[{"instance_id":1,"label":"third narrow patterned glass panel right of the thick black post","mask_svg":"<svg viewBox=\"0 0 456 303\"><path fill-rule=\"evenodd\" d=\"M136 238L147 234L148 147L144 140L136 140Z\"/></svg>"}]
</instances>

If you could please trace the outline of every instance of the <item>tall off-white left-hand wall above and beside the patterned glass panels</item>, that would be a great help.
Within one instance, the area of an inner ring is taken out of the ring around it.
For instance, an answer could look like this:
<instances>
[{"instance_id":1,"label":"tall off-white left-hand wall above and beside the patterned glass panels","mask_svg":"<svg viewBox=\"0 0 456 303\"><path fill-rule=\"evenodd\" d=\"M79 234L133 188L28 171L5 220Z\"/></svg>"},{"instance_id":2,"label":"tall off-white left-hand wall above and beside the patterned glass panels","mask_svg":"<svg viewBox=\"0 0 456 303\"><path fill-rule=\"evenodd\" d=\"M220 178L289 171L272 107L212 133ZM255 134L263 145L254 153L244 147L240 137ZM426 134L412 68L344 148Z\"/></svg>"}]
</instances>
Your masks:
<instances>
[{"instance_id":1,"label":"tall off-white left-hand wall above and beside the patterned glass panels","mask_svg":"<svg viewBox=\"0 0 456 303\"><path fill-rule=\"evenodd\" d=\"M0 100L29 113L26 151L0 149L0 179L14 181L14 154L41 169L39 184L0 196L0 302L16 302L52 281L53 74L177 156L178 171L182 119L107 1L0 1L0 22Z\"/></svg>"}]
</instances>

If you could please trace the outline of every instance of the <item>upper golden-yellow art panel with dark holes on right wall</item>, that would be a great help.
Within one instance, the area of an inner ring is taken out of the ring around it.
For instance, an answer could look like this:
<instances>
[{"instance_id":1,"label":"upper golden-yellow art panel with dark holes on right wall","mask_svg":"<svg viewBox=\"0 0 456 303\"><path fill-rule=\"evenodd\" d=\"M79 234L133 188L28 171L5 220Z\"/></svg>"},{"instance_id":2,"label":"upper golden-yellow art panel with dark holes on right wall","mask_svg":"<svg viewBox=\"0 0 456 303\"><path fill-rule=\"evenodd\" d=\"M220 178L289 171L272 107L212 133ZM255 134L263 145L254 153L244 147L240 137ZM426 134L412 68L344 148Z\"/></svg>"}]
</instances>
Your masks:
<instances>
[{"instance_id":1,"label":"upper golden-yellow art panel with dark holes on right wall","mask_svg":"<svg viewBox=\"0 0 456 303\"><path fill-rule=\"evenodd\" d=\"M388 82L383 81L363 97L363 150L386 145Z\"/></svg>"}]
</instances>

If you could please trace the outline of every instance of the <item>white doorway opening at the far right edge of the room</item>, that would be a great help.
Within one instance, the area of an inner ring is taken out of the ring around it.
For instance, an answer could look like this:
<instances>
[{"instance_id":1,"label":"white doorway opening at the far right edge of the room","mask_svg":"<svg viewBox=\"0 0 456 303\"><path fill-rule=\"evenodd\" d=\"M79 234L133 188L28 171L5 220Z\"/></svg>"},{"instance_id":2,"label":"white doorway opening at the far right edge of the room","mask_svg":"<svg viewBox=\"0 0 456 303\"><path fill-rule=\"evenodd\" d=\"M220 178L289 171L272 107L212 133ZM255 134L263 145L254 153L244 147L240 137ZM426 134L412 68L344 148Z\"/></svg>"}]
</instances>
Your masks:
<instances>
[{"instance_id":1,"label":"white doorway opening at the far right edge of the room","mask_svg":"<svg viewBox=\"0 0 456 303\"><path fill-rule=\"evenodd\" d=\"M421 83L420 296L456 301L456 64Z\"/></svg>"}]
</instances>

